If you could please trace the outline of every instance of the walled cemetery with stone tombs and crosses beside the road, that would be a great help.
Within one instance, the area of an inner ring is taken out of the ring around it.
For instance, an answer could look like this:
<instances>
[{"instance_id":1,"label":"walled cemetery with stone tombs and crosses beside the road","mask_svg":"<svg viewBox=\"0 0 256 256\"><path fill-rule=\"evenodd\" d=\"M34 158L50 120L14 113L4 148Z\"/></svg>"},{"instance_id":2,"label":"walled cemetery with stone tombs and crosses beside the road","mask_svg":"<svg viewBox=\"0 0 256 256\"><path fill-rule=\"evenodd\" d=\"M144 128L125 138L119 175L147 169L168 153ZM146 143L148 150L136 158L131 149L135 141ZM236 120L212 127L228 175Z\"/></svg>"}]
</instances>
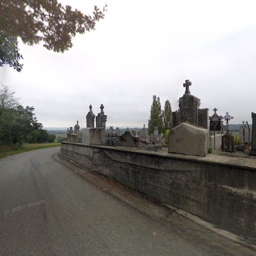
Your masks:
<instances>
[{"instance_id":1,"label":"walled cemetery with stone tombs and crosses beside the road","mask_svg":"<svg viewBox=\"0 0 256 256\"><path fill-rule=\"evenodd\" d=\"M185 80L167 145L157 126L153 135L145 124L141 132L106 128L104 105L97 116L90 105L87 127L80 131L77 121L68 129L60 155L216 226L255 233L256 114L243 121L235 140L233 116L218 115L217 108L209 116L190 86Z\"/></svg>"}]
</instances>

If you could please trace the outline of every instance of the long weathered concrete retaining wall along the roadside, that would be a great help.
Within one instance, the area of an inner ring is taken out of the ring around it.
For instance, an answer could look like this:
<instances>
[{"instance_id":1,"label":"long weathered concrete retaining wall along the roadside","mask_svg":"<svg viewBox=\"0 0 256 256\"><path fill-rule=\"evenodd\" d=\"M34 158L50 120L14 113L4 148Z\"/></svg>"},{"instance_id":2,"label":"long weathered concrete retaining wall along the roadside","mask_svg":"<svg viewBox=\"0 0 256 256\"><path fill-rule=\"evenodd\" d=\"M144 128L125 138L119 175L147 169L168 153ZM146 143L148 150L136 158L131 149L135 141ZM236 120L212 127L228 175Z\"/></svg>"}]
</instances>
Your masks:
<instances>
[{"instance_id":1,"label":"long weathered concrete retaining wall along the roadside","mask_svg":"<svg viewBox=\"0 0 256 256\"><path fill-rule=\"evenodd\" d=\"M70 142L61 143L60 154L224 229L256 233L256 159Z\"/></svg>"}]
</instances>

